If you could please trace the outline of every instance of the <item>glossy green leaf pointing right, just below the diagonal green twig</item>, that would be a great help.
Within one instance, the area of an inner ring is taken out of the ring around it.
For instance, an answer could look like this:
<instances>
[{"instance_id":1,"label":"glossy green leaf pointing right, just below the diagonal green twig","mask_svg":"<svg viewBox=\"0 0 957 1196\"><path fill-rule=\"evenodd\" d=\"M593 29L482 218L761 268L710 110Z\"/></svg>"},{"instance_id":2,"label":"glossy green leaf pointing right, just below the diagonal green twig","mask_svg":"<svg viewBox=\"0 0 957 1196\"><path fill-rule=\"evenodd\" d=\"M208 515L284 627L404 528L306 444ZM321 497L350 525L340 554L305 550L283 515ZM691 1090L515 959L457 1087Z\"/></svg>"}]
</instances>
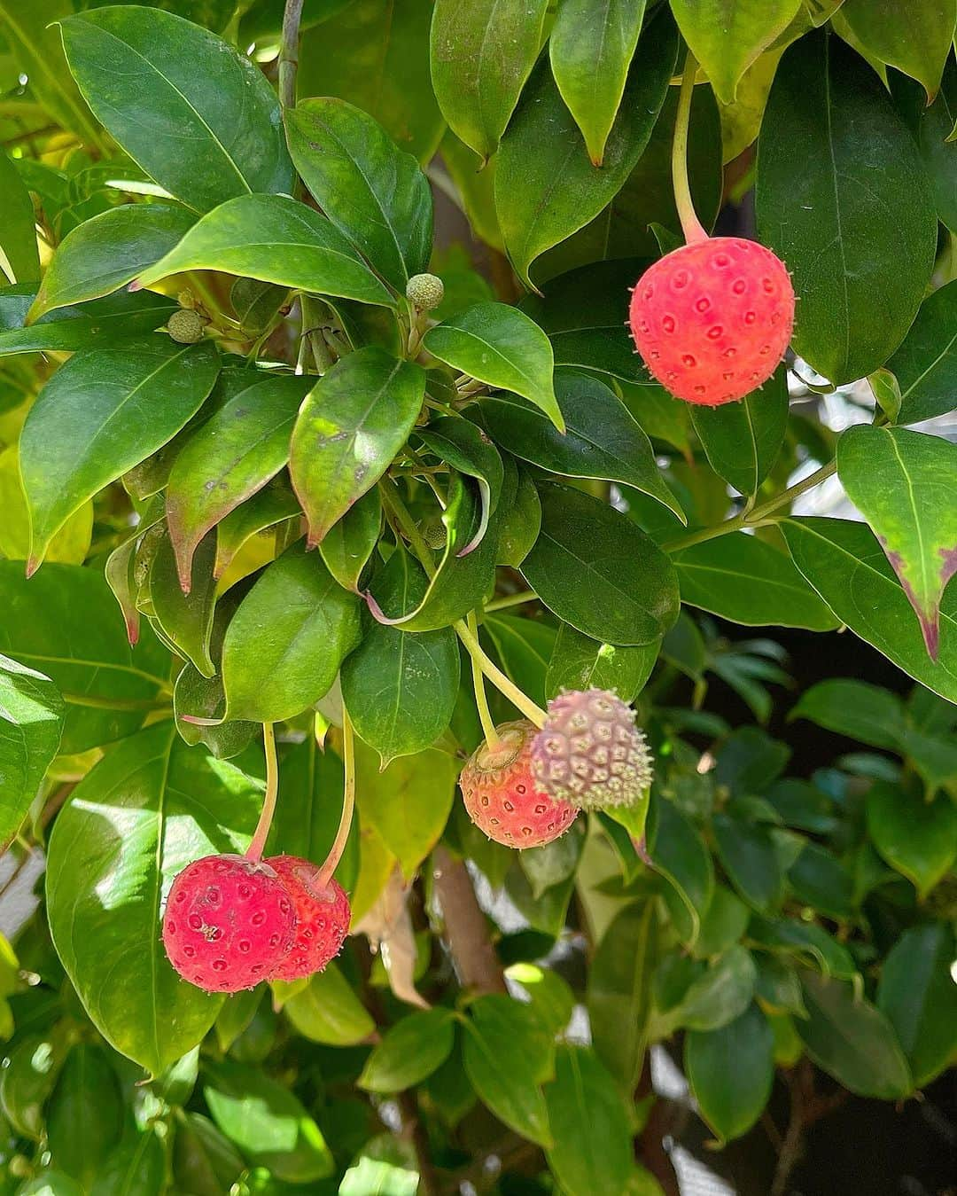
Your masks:
<instances>
[{"instance_id":1,"label":"glossy green leaf pointing right, just below the diagonal green twig","mask_svg":"<svg viewBox=\"0 0 957 1196\"><path fill-rule=\"evenodd\" d=\"M791 559L748 532L671 555L681 599L748 627L779 624L827 631L839 626Z\"/></svg>"}]
</instances>

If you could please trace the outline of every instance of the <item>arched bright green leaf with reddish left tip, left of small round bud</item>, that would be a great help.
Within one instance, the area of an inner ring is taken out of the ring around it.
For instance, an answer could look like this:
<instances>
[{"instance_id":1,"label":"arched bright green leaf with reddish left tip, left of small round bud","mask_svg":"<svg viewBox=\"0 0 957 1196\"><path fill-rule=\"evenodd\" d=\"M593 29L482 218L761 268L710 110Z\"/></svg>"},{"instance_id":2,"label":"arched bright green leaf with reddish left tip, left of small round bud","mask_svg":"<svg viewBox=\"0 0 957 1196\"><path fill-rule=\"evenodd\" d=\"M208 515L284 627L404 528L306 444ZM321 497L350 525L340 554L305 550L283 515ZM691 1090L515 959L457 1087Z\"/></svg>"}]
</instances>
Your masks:
<instances>
[{"instance_id":1,"label":"arched bright green leaf with reddish left tip, left of small round bud","mask_svg":"<svg viewBox=\"0 0 957 1196\"><path fill-rule=\"evenodd\" d=\"M148 287L184 270L222 270L360 303L395 299L327 216L288 195L241 195L214 208L143 270Z\"/></svg>"}]
</instances>

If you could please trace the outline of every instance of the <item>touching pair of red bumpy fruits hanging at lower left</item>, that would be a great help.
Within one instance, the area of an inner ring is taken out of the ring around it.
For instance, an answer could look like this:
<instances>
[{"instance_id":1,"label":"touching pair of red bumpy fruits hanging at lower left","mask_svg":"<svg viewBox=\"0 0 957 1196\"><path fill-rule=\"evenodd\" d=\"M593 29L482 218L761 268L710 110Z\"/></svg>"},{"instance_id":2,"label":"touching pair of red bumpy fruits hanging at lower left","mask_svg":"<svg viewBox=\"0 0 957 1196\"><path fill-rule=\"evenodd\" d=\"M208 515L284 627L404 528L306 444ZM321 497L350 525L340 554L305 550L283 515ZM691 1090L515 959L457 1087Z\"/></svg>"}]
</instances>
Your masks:
<instances>
[{"instance_id":1,"label":"touching pair of red bumpy fruits hanging at lower left","mask_svg":"<svg viewBox=\"0 0 957 1196\"><path fill-rule=\"evenodd\" d=\"M342 887L295 855L207 855L173 880L162 945L183 980L208 993L321 971L349 932Z\"/></svg>"}]
</instances>

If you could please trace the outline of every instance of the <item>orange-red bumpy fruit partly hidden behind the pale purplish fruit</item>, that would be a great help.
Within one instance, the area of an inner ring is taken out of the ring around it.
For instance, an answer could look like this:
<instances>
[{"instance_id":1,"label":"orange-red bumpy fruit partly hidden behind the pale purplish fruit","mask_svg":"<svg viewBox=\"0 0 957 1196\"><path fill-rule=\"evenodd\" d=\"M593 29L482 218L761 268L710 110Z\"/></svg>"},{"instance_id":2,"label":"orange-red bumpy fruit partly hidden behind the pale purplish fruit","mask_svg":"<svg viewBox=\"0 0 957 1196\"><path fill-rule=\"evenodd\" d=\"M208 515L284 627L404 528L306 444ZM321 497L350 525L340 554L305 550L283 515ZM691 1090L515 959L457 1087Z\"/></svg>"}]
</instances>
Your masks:
<instances>
[{"instance_id":1,"label":"orange-red bumpy fruit partly hidden behind the pale purplish fruit","mask_svg":"<svg viewBox=\"0 0 957 1196\"><path fill-rule=\"evenodd\" d=\"M481 744L459 777L465 808L489 838L505 847L541 847L564 835L578 811L553 801L532 776L535 727L527 719L503 722L499 742Z\"/></svg>"}]
</instances>

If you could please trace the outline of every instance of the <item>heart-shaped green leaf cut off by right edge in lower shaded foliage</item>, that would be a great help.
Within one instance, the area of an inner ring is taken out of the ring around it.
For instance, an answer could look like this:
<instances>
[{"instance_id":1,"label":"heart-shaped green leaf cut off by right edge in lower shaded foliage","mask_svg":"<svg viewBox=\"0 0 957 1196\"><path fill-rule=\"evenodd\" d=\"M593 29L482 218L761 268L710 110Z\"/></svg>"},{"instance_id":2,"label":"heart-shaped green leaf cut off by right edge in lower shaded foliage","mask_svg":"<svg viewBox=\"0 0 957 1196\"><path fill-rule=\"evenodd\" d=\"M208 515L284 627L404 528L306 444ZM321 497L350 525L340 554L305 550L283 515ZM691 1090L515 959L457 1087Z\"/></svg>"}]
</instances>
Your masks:
<instances>
[{"instance_id":1,"label":"heart-shaped green leaf cut off by right edge in lower shaded foliage","mask_svg":"<svg viewBox=\"0 0 957 1196\"><path fill-rule=\"evenodd\" d=\"M925 801L875 781L867 794L867 830L888 864L914 883L921 901L957 859L957 807L947 797Z\"/></svg>"}]
</instances>

